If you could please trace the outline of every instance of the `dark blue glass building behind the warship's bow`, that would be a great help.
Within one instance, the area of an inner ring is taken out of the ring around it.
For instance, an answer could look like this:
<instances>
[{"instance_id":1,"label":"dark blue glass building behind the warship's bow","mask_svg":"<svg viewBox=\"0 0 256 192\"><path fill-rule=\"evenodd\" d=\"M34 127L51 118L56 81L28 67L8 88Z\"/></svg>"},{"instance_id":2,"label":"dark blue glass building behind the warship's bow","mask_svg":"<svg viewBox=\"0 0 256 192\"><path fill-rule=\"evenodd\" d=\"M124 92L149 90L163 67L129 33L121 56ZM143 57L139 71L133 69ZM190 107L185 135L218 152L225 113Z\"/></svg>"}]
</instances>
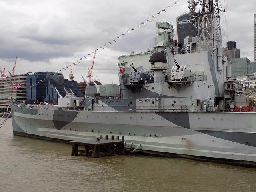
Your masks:
<instances>
[{"instance_id":1,"label":"dark blue glass building behind the warship's bow","mask_svg":"<svg viewBox=\"0 0 256 192\"><path fill-rule=\"evenodd\" d=\"M38 102L55 102L57 104L60 93L62 97L66 95L69 89L75 96L82 96L76 81L64 79L63 74L55 72L37 72L27 76L27 103L35 104ZM56 89L55 89L56 88ZM66 91L64 90L66 89Z\"/></svg>"}]
</instances>

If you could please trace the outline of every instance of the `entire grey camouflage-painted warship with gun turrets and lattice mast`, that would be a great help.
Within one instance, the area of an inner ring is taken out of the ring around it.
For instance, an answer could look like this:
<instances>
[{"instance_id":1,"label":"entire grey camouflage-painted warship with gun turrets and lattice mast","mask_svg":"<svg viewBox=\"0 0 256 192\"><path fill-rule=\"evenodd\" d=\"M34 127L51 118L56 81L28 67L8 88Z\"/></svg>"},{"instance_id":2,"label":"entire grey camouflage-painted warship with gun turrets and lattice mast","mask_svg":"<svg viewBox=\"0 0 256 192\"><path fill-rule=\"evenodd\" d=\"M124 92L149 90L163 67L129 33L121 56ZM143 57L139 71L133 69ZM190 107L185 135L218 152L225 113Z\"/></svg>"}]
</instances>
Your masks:
<instances>
[{"instance_id":1,"label":"entire grey camouflage-painted warship with gun turrets and lattice mast","mask_svg":"<svg viewBox=\"0 0 256 192\"><path fill-rule=\"evenodd\" d=\"M60 142L124 136L141 154L256 166L256 112L231 79L217 0L188 1L196 36L172 41L156 23L152 50L120 56L119 84L86 86L58 105L12 103L13 134ZM68 107L67 102L73 106Z\"/></svg>"}]
</instances>

